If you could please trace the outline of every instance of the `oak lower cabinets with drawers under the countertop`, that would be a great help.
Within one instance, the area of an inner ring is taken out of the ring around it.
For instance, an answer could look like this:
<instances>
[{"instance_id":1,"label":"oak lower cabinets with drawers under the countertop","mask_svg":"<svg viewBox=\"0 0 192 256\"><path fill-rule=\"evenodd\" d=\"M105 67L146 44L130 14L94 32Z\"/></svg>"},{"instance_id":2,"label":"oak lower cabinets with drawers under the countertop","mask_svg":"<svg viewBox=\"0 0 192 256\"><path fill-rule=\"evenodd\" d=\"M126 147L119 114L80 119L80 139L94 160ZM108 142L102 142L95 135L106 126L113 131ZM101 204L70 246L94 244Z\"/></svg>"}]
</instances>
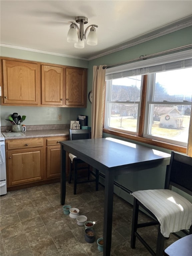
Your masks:
<instances>
[{"instance_id":1,"label":"oak lower cabinets with drawers under the countertop","mask_svg":"<svg viewBox=\"0 0 192 256\"><path fill-rule=\"evenodd\" d=\"M61 153L59 141L68 136L5 140L7 188L60 178ZM68 170L68 154L66 166ZM67 171L68 174L68 171ZM24 186L26 185L26 186Z\"/></svg>"}]
</instances>

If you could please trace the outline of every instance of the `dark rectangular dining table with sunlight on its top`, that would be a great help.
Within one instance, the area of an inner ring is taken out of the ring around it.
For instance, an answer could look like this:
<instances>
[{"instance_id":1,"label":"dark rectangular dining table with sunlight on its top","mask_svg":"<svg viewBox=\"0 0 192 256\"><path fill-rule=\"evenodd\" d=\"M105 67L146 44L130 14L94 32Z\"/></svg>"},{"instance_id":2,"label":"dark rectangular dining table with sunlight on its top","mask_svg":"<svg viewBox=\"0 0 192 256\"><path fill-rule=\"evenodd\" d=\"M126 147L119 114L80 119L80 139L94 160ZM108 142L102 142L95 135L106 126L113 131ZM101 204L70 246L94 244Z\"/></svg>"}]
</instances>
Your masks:
<instances>
[{"instance_id":1,"label":"dark rectangular dining table with sunlight on its top","mask_svg":"<svg viewBox=\"0 0 192 256\"><path fill-rule=\"evenodd\" d=\"M170 154L113 138L63 141L61 144L61 204L66 195L66 151L105 174L103 255L111 250L115 175L169 165Z\"/></svg>"}]
</instances>

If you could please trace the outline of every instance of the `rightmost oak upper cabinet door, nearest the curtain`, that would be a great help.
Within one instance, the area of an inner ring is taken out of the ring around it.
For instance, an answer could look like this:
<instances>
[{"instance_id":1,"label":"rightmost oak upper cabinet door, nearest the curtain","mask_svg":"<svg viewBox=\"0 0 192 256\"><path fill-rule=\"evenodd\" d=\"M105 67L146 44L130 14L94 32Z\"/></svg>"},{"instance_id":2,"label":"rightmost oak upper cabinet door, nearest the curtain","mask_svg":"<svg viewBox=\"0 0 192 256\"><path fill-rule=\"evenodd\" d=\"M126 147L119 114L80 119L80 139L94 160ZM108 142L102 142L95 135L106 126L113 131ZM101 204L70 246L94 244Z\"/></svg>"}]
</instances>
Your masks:
<instances>
[{"instance_id":1,"label":"rightmost oak upper cabinet door, nearest the curtain","mask_svg":"<svg viewBox=\"0 0 192 256\"><path fill-rule=\"evenodd\" d=\"M66 105L86 107L86 74L85 69L66 68Z\"/></svg>"}]
</instances>

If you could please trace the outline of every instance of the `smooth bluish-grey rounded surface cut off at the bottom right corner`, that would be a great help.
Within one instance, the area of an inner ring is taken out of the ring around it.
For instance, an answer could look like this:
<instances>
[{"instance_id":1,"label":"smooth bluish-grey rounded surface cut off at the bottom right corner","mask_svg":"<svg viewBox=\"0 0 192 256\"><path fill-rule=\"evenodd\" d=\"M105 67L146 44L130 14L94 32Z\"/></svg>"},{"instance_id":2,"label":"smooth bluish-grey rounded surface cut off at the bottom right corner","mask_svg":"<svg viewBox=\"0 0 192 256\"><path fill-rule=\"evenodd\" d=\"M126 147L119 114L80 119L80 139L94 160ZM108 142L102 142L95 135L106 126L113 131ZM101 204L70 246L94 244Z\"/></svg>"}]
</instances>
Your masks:
<instances>
[{"instance_id":1,"label":"smooth bluish-grey rounded surface cut off at the bottom right corner","mask_svg":"<svg viewBox=\"0 0 192 256\"><path fill-rule=\"evenodd\" d=\"M166 256L191 256L192 235L185 236L165 249Z\"/></svg>"}]
</instances>

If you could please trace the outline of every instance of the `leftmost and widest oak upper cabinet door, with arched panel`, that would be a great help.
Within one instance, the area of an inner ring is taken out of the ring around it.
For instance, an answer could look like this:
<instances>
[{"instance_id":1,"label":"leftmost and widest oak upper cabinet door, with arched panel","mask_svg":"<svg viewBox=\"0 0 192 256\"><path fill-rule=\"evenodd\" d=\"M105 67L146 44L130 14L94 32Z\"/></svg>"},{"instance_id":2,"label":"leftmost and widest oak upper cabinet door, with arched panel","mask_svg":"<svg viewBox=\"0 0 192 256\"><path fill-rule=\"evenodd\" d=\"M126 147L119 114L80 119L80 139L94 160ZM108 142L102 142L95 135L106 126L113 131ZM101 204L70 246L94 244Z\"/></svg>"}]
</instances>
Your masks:
<instances>
[{"instance_id":1,"label":"leftmost and widest oak upper cabinet door, with arched panel","mask_svg":"<svg viewBox=\"0 0 192 256\"><path fill-rule=\"evenodd\" d=\"M39 105L38 64L3 60L3 104Z\"/></svg>"}]
</instances>

